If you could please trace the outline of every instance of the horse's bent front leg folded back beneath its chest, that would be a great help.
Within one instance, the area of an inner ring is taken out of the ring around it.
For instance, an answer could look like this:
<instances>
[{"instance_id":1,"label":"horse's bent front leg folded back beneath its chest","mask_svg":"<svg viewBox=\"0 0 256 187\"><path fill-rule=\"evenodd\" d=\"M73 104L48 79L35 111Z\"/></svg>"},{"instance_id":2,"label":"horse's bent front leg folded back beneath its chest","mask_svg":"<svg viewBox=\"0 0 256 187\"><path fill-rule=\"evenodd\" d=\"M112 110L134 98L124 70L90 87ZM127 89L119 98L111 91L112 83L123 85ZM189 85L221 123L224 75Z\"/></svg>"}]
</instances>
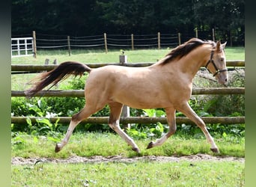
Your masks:
<instances>
[{"instance_id":1,"label":"horse's bent front leg folded back beneath its chest","mask_svg":"<svg viewBox=\"0 0 256 187\"><path fill-rule=\"evenodd\" d=\"M148 144L147 149L162 145L171 135L174 134L174 132L176 132L175 109L172 107L165 108L165 112L169 125L169 131L163 135L162 138L156 140L156 142L151 141L150 144Z\"/></svg>"}]
</instances>

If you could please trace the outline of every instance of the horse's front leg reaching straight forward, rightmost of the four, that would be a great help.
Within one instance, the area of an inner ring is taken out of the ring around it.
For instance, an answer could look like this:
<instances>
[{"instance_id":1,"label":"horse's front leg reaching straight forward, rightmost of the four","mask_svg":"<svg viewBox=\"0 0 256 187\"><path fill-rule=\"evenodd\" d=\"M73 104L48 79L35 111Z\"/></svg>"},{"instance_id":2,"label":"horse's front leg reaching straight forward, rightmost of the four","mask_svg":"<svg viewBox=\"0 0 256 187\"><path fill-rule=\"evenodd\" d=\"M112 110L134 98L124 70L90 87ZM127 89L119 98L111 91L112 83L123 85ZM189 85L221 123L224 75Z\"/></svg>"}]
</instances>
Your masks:
<instances>
[{"instance_id":1,"label":"horse's front leg reaching straight forward, rightmost of the four","mask_svg":"<svg viewBox=\"0 0 256 187\"><path fill-rule=\"evenodd\" d=\"M219 153L219 148L216 146L213 137L208 132L204 121L200 117L198 117L197 114L195 114L195 111L193 111L189 103L186 102L184 105L182 105L181 108L177 108L177 110L181 111L183 114L189 117L189 119L192 120L198 127L200 127L200 129L204 132L207 141L211 145L210 150L212 150L214 153Z\"/></svg>"}]
</instances>

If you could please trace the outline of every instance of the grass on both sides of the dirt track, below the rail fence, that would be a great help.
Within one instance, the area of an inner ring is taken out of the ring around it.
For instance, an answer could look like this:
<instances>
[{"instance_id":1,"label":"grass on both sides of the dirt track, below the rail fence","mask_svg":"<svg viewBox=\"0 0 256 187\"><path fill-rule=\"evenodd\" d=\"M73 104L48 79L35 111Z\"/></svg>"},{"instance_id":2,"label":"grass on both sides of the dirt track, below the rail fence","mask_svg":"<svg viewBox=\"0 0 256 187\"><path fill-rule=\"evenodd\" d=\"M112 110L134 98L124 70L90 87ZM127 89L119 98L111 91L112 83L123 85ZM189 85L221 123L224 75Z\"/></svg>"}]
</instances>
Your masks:
<instances>
[{"instance_id":1,"label":"grass on both sides of the dirt track, below the rail fence","mask_svg":"<svg viewBox=\"0 0 256 187\"><path fill-rule=\"evenodd\" d=\"M12 139L12 156L60 158L70 156L185 156L206 153L212 156L244 157L244 138L216 139L220 154L210 152L204 138L174 135L161 147L146 150L150 139L136 140L141 154L133 152L120 136L112 133L75 133L69 144L54 153L55 139L19 135ZM245 165L239 161L101 162L12 165L11 186L244 186Z\"/></svg>"}]
</instances>

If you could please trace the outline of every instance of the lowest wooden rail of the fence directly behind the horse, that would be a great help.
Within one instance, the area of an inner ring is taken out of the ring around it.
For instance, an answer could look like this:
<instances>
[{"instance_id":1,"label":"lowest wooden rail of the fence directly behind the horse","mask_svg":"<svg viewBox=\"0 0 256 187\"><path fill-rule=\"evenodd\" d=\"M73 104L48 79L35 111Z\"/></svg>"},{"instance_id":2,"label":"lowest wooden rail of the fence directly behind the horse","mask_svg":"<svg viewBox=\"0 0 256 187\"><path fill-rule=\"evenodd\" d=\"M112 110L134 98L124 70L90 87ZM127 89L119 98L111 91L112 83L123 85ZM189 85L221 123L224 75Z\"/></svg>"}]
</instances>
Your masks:
<instances>
[{"instance_id":1,"label":"lowest wooden rail of the fence directly behind the horse","mask_svg":"<svg viewBox=\"0 0 256 187\"><path fill-rule=\"evenodd\" d=\"M31 123L36 123L37 120L44 119L46 117L29 117ZM204 120L204 123L223 123L223 124L238 124L245 123L246 117L201 117ZM11 123L26 123L27 117L11 117ZM51 123L55 123L58 120L58 123L70 123L71 117L49 117ZM82 120L81 123L105 123L107 124L109 117L88 117L86 120ZM121 117L120 123L157 123L167 124L166 117ZM195 124L192 120L189 120L187 117L176 117L177 124Z\"/></svg>"}]
</instances>

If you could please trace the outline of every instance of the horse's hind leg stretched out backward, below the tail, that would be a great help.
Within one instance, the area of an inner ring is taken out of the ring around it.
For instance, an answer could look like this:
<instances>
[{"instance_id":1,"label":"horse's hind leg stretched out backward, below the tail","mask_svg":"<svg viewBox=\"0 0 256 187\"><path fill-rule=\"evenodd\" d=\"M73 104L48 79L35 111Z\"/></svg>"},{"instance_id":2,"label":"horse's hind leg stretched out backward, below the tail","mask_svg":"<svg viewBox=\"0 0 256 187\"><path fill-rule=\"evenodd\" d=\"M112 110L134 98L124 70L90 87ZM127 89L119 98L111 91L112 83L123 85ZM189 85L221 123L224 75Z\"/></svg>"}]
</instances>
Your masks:
<instances>
[{"instance_id":1,"label":"horse's hind leg stretched out backward, below the tail","mask_svg":"<svg viewBox=\"0 0 256 187\"><path fill-rule=\"evenodd\" d=\"M86 104L84 108L82 108L79 113L74 114L72 117L72 120L70 121L70 125L68 126L67 132L61 143L56 144L55 147L55 153L58 153L69 141L70 136L73 133L73 130L76 128L76 126L87 117L91 116L91 114L94 114L96 111L99 111L102 109L104 105L101 107L95 108L94 105Z\"/></svg>"}]
</instances>

